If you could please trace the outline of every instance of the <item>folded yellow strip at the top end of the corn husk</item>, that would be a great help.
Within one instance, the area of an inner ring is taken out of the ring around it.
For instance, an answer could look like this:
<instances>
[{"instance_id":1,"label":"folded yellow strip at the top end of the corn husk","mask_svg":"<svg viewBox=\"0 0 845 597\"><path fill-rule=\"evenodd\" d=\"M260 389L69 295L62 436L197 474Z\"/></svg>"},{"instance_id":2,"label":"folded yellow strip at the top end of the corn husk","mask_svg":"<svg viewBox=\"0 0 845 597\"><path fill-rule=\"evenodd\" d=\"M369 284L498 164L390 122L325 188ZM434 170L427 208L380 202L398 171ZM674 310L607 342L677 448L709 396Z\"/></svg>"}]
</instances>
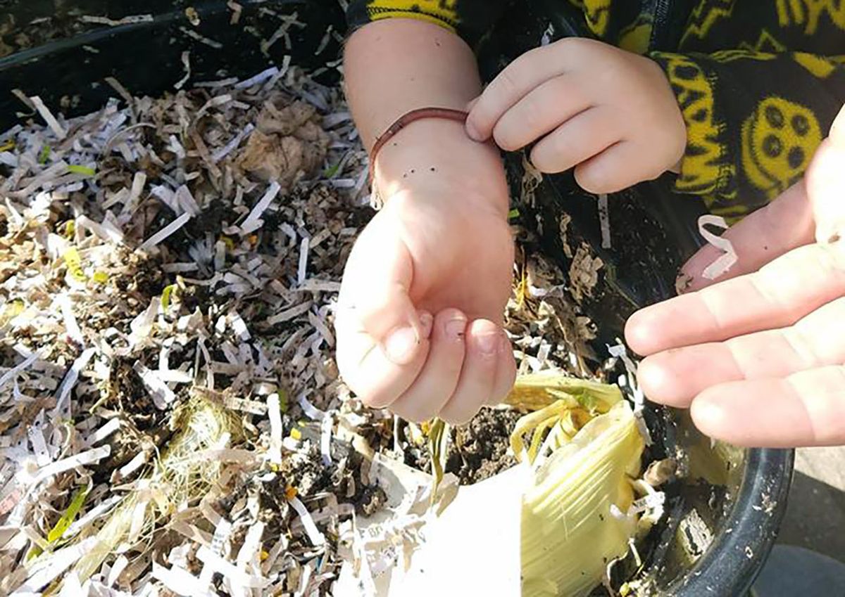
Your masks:
<instances>
[{"instance_id":1,"label":"folded yellow strip at the top end of the corn husk","mask_svg":"<svg viewBox=\"0 0 845 597\"><path fill-rule=\"evenodd\" d=\"M593 414L599 414L622 401L622 391L617 385L567 377L561 371L550 370L521 375L504 403L526 411L539 411L559 400L574 400Z\"/></svg>"}]
</instances>

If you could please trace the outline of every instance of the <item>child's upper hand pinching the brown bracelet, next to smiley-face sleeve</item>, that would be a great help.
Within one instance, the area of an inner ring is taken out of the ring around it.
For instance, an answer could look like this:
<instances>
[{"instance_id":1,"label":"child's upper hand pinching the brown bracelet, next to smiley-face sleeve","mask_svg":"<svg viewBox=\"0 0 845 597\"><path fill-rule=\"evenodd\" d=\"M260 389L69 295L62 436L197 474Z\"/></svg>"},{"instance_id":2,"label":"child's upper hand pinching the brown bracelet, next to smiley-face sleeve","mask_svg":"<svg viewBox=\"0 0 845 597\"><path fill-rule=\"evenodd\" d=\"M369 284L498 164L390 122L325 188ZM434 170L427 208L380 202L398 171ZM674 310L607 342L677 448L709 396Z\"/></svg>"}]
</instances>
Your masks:
<instances>
[{"instance_id":1,"label":"child's upper hand pinching the brown bracelet, next to smiley-face sleeve","mask_svg":"<svg viewBox=\"0 0 845 597\"><path fill-rule=\"evenodd\" d=\"M526 52L472 107L470 137L532 149L541 172L575 166L593 193L620 191L673 169L686 126L656 62L599 41L560 40Z\"/></svg>"}]
</instances>

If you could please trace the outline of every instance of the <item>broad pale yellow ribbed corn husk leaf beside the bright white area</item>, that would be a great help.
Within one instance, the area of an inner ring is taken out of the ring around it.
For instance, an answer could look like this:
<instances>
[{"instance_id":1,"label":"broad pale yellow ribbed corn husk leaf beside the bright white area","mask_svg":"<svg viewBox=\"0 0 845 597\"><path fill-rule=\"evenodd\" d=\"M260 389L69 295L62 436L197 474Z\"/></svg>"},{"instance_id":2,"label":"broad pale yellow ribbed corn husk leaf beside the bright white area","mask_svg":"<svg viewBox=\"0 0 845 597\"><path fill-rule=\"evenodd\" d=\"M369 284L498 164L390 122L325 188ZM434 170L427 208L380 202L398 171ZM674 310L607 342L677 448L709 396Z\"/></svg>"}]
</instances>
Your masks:
<instances>
[{"instance_id":1,"label":"broad pale yellow ribbed corn husk leaf beside the bright white area","mask_svg":"<svg viewBox=\"0 0 845 597\"><path fill-rule=\"evenodd\" d=\"M523 495L523 597L580 597L599 584L607 563L623 557L636 531L634 500L644 447L625 401L581 428L542 463Z\"/></svg>"}]
</instances>

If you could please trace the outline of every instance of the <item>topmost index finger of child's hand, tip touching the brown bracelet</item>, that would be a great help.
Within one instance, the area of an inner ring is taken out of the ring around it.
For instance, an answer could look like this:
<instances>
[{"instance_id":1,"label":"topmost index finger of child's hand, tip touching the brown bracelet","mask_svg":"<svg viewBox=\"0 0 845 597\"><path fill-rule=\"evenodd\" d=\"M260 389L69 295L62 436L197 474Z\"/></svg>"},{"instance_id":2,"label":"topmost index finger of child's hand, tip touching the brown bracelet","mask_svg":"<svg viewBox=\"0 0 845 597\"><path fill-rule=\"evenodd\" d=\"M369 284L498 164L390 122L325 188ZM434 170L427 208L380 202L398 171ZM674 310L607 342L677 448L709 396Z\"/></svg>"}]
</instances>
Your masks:
<instances>
[{"instance_id":1,"label":"topmost index finger of child's hand, tip touching the brown bracelet","mask_svg":"<svg viewBox=\"0 0 845 597\"><path fill-rule=\"evenodd\" d=\"M466 119L466 133L486 141L504 113L532 89L564 73L559 52L550 46L537 48L511 62L484 89Z\"/></svg>"}]
</instances>

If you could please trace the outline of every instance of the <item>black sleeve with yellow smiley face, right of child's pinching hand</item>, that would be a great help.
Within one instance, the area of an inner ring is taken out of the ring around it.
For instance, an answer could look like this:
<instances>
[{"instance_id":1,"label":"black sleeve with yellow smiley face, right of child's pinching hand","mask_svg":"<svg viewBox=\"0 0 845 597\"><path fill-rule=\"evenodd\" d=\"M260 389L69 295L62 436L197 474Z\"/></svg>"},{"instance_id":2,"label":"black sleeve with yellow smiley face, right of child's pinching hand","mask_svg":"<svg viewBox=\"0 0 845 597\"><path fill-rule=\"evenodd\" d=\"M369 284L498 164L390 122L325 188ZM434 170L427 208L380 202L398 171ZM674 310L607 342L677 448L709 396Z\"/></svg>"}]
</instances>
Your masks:
<instances>
[{"instance_id":1,"label":"black sleeve with yellow smiley face, right of child's pinching hand","mask_svg":"<svg viewBox=\"0 0 845 597\"><path fill-rule=\"evenodd\" d=\"M739 217L803 175L845 103L845 56L654 53L687 125L677 191Z\"/></svg>"}]
</instances>

